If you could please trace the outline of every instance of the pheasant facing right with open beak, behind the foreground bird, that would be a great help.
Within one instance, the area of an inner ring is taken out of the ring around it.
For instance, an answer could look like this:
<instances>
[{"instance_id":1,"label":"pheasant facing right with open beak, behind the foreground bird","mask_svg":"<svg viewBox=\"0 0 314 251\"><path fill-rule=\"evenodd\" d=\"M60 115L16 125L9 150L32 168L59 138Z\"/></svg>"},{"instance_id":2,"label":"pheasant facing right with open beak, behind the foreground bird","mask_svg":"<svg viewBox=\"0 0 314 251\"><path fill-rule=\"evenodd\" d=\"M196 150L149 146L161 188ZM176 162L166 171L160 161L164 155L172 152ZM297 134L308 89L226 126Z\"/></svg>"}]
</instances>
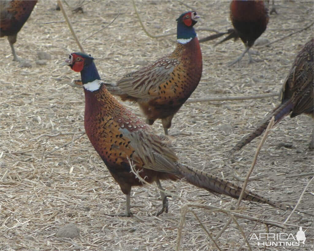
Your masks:
<instances>
[{"instance_id":1,"label":"pheasant facing right with open beak, behind the foreground bird","mask_svg":"<svg viewBox=\"0 0 314 251\"><path fill-rule=\"evenodd\" d=\"M161 119L165 134L202 76L202 52L193 28L198 18L195 11L181 14L176 19L177 45L171 54L125 75L114 86L107 85L123 101L137 102L149 125Z\"/></svg>"}]
</instances>

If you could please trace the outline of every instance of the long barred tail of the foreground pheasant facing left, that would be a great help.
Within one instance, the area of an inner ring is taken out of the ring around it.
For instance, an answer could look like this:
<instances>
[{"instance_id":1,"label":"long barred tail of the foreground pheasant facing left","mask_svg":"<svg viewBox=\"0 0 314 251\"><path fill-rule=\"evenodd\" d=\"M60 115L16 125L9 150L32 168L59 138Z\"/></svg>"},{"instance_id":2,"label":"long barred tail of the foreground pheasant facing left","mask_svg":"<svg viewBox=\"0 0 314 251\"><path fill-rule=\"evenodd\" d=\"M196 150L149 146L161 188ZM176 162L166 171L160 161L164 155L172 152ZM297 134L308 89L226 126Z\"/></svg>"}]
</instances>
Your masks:
<instances>
[{"instance_id":1,"label":"long barred tail of the foreground pheasant facing left","mask_svg":"<svg viewBox=\"0 0 314 251\"><path fill-rule=\"evenodd\" d=\"M181 175L186 178L187 182L210 192L228 195L232 198L239 198L241 194L242 187L235 185L225 179L220 179L212 174L203 172L199 169L180 164L179 172L181 172ZM282 210L291 208L290 206L284 206L280 203L273 202L272 200L269 200L248 190L245 190L242 199L258 203L265 203Z\"/></svg>"}]
</instances>

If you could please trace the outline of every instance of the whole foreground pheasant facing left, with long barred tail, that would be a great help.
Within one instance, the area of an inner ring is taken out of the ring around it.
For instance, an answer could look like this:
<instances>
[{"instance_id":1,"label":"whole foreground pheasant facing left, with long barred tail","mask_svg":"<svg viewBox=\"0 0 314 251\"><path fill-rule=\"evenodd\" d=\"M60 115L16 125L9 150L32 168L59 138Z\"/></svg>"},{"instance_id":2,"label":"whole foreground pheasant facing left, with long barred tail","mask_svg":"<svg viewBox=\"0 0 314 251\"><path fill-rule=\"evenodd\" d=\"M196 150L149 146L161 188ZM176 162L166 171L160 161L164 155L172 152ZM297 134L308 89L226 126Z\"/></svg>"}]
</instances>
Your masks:
<instances>
[{"instance_id":1,"label":"whole foreground pheasant facing left, with long barred tail","mask_svg":"<svg viewBox=\"0 0 314 251\"><path fill-rule=\"evenodd\" d=\"M66 63L75 72L81 72L85 93L84 127L86 134L109 172L126 195L126 214L131 215L130 193L132 186L142 182L131 172L130 162L138 175L148 183L156 182L160 189L163 207L157 215L168 211L167 196L161 179L183 179L213 193L238 198L241 187L196 168L180 163L169 146L166 136L157 136L132 111L120 104L100 80L94 58L75 52ZM284 208L253 192L245 191L244 200L267 203Z\"/></svg>"}]
</instances>

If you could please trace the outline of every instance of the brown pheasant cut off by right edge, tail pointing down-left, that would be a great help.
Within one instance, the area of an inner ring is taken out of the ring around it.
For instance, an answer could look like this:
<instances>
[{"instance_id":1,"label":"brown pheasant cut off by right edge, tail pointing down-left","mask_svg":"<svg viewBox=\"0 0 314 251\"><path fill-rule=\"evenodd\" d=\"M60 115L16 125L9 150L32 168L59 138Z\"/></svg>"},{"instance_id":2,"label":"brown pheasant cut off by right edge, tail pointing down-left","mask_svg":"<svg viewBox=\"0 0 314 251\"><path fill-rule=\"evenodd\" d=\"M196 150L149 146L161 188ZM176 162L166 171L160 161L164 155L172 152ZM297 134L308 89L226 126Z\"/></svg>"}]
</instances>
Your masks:
<instances>
[{"instance_id":1,"label":"brown pheasant cut off by right edge, tail pointing down-left","mask_svg":"<svg viewBox=\"0 0 314 251\"><path fill-rule=\"evenodd\" d=\"M302 113L313 117L313 41L311 39L307 42L296 56L281 89L281 104L260 123L261 125L255 131L245 136L231 151L240 150L254 138L260 136L273 116L275 116L275 123L290 113L291 118ZM313 134L311 137L310 148L313 149Z\"/></svg>"}]
</instances>

